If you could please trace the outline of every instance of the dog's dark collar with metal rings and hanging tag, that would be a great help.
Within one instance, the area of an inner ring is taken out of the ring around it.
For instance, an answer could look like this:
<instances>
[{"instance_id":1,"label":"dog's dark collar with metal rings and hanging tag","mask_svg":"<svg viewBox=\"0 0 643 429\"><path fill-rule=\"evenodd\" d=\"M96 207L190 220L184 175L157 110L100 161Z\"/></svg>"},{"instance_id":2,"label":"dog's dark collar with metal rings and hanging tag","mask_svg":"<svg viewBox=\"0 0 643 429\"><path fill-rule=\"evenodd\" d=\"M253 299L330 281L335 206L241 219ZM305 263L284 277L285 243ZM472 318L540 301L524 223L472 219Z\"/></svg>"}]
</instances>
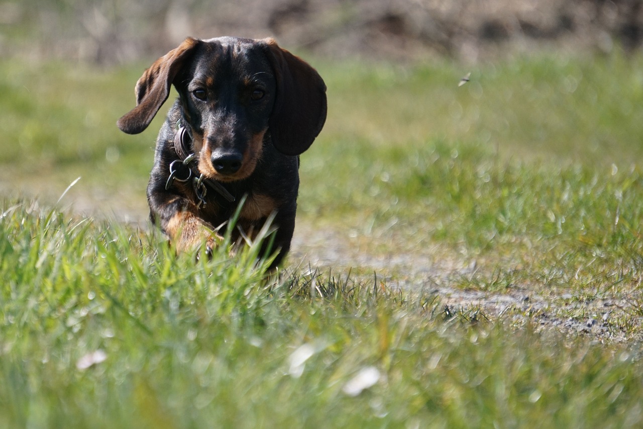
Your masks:
<instances>
[{"instance_id":1,"label":"dog's dark collar with metal rings and hanging tag","mask_svg":"<svg viewBox=\"0 0 643 429\"><path fill-rule=\"evenodd\" d=\"M167 183L165 184L165 189L168 189L170 186L172 186L172 182L174 180L179 180L179 182L187 182L188 180L190 180L190 178L192 178L192 186L194 187L194 191L197 194L197 198L199 198L198 207L206 204L205 196L207 193L207 187L210 187L210 189L216 191L219 195L225 198L227 202L235 202L236 198L230 192L228 192L228 189L223 187L223 185L216 180L204 177L203 173L199 172L199 168L196 165L196 157L194 153L192 153L189 149L191 145L188 130L183 126L180 126L179 123L177 123L177 126L179 128L177 129L176 135L174 136L174 151L179 157L179 160L176 160L170 164L170 176L168 177ZM180 178L181 175L183 175L184 178Z\"/></svg>"}]
</instances>

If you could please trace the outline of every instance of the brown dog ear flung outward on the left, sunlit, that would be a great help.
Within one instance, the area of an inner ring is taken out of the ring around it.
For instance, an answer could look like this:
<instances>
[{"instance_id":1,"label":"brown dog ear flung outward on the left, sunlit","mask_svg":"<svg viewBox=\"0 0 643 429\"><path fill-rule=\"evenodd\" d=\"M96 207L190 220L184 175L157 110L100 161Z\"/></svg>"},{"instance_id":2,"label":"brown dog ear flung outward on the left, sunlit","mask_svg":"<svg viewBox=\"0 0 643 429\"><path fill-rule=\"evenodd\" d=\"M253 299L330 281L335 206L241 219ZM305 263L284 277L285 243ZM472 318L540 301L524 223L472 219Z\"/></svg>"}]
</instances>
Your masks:
<instances>
[{"instance_id":1,"label":"brown dog ear flung outward on the left, sunlit","mask_svg":"<svg viewBox=\"0 0 643 429\"><path fill-rule=\"evenodd\" d=\"M170 86L174 77L197 44L199 44L198 39L188 37L178 48L166 53L145 70L134 88L136 108L116 122L118 128L128 134L138 134L149 126L156 112L170 95Z\"/></svg>"}]
</instances>

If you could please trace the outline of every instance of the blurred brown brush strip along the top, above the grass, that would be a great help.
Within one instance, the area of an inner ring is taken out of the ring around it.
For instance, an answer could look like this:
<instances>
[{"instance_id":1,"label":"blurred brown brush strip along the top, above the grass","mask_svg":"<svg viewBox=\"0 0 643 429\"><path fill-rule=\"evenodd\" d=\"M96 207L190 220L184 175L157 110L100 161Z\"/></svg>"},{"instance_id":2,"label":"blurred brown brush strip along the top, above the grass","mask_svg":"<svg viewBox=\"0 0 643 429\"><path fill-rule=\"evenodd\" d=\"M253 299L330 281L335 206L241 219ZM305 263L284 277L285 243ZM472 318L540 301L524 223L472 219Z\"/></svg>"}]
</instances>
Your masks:
<instances>
[{"instance_id":1,"label":"blurred brown brush strip along the top, above the grass","mask_svg":"<svg viewBox=\"0 0 643 429\"><path fill-rule=\"evenodd\" d=\"M15 0L3 57L99 64L158 55L186 35L276 37L331 57L480 61L552 46L608 53L643 40L638 0Z\"/></svg>"}]
</instances>

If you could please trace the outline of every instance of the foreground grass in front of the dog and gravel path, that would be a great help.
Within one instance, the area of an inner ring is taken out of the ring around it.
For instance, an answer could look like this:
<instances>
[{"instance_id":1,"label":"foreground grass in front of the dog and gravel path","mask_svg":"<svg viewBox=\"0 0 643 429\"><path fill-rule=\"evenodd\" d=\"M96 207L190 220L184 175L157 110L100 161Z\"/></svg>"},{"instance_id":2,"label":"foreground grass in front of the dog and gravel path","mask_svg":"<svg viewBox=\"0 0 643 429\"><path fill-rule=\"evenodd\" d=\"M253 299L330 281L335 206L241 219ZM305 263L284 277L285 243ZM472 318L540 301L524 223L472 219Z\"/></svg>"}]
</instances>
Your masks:
<instances>
[{"instance_id":1,"label":"foreground grass in front of the dog and gravel path","mask_svg":"<svg viewBox=\"0 0 643 429\"><path fill-rule=\"evenodd\" d=\"M643 419L637 347L476 321L435 296L381 283L301 273L264 280L252 250L195 264L156 234L25 204L6 210L0 228L5 427ZM347 394L372 367L374 379Z\"/></svg>"}]
</instances>

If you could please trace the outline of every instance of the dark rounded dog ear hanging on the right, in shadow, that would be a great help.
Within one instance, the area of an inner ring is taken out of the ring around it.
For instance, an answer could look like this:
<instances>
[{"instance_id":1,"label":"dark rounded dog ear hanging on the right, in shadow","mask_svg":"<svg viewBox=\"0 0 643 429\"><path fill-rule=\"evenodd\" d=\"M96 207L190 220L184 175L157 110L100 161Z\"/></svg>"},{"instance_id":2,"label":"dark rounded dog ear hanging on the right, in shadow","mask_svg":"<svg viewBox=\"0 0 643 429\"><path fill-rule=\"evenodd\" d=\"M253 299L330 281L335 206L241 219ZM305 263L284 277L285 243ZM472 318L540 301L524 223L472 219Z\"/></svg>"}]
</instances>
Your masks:
<instances>
[{"instance_id":1,"label":"dark rounded dog ear hanging on the right, in shadow","mask_svg":"<svg viewBox=\"0 0 643 429\"><path fill-rule=\"evenodd\" d=\"M326 85L307 62L266 39L267 56L276 77L275 106L270 134L285 155L310 148L326 120Z\"/></svg>"}]
</instances>

